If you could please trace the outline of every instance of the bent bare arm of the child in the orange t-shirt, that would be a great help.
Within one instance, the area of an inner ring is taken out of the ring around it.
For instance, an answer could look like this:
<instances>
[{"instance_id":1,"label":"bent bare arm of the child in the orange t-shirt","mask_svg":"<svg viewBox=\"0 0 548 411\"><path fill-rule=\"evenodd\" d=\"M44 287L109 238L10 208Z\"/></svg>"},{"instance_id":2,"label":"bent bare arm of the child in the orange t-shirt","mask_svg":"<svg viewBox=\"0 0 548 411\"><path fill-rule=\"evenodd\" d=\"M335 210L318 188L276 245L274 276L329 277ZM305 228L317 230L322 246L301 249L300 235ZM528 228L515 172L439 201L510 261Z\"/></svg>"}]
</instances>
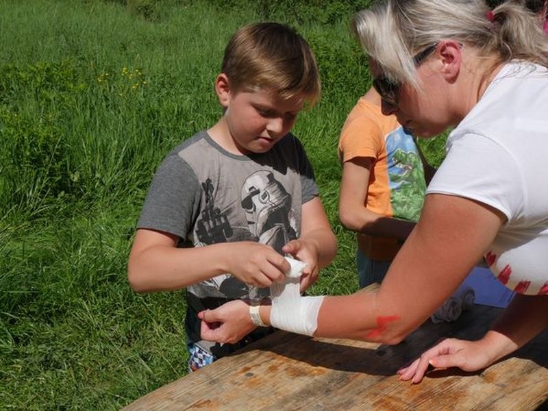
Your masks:
<instances>
[{"instance_id":1,"label":"bent bare arm of the child in the orange t-shirt","mask_svg":"<svg viewBox=\"0 0 548 411\"><path fill-rule=\"evenodd\" d=\"M340 222L355 232L405 241L415 223L378 214L365 206L372 167L373 159L369 157L344 162L338 210Z\"/></svg>"}]
</instances>

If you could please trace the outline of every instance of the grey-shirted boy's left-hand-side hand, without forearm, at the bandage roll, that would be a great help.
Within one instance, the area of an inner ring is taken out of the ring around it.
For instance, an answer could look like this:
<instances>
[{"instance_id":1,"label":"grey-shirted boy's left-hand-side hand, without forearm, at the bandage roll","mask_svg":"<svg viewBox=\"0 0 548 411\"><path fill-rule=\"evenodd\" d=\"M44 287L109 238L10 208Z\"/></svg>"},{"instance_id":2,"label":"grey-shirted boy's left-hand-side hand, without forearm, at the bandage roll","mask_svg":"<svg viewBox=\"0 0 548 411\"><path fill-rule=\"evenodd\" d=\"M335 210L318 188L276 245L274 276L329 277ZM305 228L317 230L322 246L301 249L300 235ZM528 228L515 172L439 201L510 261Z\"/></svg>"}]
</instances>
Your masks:
<instances>
[{"instance_id":1,"label":"grey-shirted boy's left-hand-side hand, without forearm, at the bandage roll","mask_svg":"<svg viewBox=\"0 0 548 411\"><path fill-rule=\"evenodd\" d=\"M285 273L291 269L284 256L272 247L252 241L231 243L226 261L228 273L260 288L285 281Z\"/></svg>"}]
</instances>

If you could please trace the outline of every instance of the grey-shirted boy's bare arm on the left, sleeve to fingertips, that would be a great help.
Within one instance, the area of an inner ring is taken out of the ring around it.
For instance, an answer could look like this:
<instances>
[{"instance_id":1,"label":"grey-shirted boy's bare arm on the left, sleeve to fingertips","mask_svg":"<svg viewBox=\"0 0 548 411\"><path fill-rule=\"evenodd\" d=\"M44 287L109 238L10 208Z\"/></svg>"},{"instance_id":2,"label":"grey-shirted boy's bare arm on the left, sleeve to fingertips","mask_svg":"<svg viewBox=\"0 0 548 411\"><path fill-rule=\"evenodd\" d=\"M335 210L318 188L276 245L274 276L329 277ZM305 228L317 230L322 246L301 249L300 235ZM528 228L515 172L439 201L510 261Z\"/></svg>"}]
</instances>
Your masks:
<instances>
[{"instance_id":1,"label":"grey-shirted boy's bare arm on the left, sleeve to fingertips","mask_svg":"<svg viewBox=\"0 0 548 411\"><path fill-rule=\"evenodd\" d=\"M177 248L179 237L138 229L129 253L127 277L139 292L176 290L223 273L251 286L282 281L289 263L272 247L253 241Z\"/></svg>"}]
</instances>

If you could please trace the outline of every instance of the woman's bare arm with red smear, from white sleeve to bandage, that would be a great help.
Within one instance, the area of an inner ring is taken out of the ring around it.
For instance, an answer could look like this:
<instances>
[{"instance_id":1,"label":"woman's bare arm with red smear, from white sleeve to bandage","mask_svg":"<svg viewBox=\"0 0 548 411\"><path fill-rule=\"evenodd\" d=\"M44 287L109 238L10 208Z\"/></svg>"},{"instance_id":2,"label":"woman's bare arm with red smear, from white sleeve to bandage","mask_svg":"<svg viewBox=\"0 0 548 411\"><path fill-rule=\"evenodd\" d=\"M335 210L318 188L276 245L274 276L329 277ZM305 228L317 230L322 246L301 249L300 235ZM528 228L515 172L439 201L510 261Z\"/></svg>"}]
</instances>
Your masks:
<instances>
[{"instance_id":1,"label":"woman's bare arm with red smear, from white sleeve to bandage","mask_svg":"<svg viewBox=\"0 0 548 411\"><path fill-rule=\"evenodd\" d=\"M399 343L458 288L500 225L498 214L473 201L427 196L379 290L325 297L314 336Z\"/></svg>"}]
</instances>

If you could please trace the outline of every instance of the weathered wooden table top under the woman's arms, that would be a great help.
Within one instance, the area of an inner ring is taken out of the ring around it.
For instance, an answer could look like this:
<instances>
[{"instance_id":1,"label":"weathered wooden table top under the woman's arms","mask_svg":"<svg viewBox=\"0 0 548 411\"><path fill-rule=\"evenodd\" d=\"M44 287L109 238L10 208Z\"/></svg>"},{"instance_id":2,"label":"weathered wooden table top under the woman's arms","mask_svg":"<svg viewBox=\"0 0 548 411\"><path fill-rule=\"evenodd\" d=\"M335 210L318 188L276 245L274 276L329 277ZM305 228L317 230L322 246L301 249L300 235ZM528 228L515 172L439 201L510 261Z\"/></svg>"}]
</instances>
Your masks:
<instances>
[{"instance_id":1,"label":"weathered wooden table top under the woman's arms","mask_svg":"<svg viewBox=\"0 0 548 411\"><path fill-rule=\"evenodd\" d=\"M430 371L420 384L396 375L441 337L479 338L500 312L475 305L393 346L278 331L123 410L536 410L548 399L548 332L481 372Z\"/></svg>"}]
</instances>

